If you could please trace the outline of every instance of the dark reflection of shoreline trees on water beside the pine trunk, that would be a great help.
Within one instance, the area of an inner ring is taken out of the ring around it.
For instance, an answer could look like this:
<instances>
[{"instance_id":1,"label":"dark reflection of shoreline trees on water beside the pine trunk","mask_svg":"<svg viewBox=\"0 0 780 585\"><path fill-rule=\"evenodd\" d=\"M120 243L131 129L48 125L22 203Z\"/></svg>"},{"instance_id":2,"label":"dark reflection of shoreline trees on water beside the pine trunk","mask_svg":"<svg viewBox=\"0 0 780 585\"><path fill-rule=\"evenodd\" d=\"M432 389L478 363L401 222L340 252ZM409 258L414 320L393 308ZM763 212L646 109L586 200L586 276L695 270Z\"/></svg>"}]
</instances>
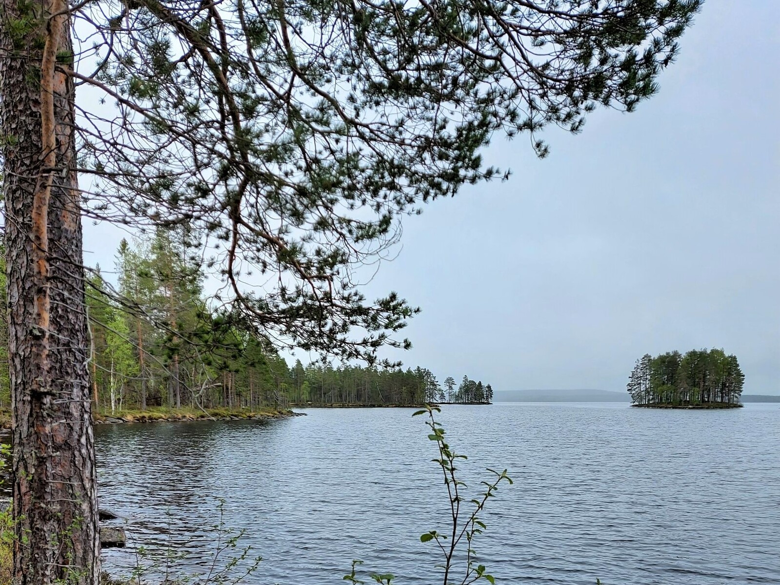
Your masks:
<instances>
[{"instance_id":1,"label":"dark reflection of shoreline trees on water beside the pine trunk","mask_svg":"<svg viewBox=\"0 0 780 585\"><path fill-rule=\"evenodd\" d=\"M261 421L116 424L95 427L101 505L126 518L131 543L203 549L217 516L212 488L232 431Z\"/></svg>"}]
</instances>

